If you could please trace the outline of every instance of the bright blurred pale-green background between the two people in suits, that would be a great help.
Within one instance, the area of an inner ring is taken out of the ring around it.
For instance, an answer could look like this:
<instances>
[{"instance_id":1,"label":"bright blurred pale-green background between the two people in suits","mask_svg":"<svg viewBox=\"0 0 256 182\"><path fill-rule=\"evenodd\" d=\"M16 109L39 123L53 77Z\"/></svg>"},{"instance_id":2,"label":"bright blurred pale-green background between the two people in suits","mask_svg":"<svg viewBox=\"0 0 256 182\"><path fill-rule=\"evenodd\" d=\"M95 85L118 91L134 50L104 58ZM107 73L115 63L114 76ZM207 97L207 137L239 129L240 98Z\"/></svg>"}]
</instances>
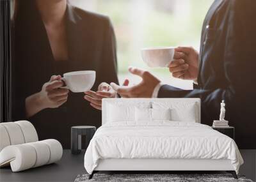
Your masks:
<instances>
[{"instance_id":1,"label":"bright blurred pale-green background between the two people in suits","mask_svg":"<svg viewBox=\"0 0 256 182\"><path fill-rule=\"evenodd\" d=\"M88 11L108 15L113 23L120 83L140 78L127 72L129 66L150 70L162 82L191 89L192 82L174 79L168 68L148 68L141 59L145 47L193 46L199 50L202 23L213 0L69 0Z\"/></svg>"}]
</instances>

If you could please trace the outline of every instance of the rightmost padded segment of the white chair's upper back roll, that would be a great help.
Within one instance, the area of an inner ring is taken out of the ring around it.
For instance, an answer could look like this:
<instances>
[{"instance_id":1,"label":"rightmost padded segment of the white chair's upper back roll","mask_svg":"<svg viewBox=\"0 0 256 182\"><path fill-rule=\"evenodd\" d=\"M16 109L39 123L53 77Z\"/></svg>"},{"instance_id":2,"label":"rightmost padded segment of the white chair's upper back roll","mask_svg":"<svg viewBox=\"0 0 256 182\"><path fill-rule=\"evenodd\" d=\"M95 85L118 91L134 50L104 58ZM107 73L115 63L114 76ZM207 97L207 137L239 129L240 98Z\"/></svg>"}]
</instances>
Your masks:
<instances>
[{"instance_id":1,"label":"rightmost padded segment of the white chair's upper back roll","mask_svg":"<svg viewBox=\"0 0 256 182\"><path fill-rule=\"evenodd\" d=\"M16 121L24 135L25 143L38 141L38 136L35 127L29 121Z\"/></svg>"}]
</instances>

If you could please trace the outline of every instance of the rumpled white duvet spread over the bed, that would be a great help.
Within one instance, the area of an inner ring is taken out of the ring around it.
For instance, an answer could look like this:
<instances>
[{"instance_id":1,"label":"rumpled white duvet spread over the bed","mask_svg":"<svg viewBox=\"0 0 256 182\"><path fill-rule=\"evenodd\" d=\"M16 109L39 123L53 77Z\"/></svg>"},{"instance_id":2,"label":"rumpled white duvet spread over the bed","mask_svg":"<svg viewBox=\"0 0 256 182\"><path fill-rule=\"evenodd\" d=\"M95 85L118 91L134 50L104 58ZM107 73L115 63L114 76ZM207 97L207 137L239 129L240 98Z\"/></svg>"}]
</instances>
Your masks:
<instances>
[{"instance_id":1,"label":"rumpled white duvet spread over the bed","mask_svg":"<svg viewBox=\"0 0 256 182\"><path fill-rule=\"evenodd\" d=\"M92 174L99 159L106 158L229 159L237 174L243 164L230 137L207 125L174 121L100 126L84 155L86 171Z\"/></svg>"}]
</instances>

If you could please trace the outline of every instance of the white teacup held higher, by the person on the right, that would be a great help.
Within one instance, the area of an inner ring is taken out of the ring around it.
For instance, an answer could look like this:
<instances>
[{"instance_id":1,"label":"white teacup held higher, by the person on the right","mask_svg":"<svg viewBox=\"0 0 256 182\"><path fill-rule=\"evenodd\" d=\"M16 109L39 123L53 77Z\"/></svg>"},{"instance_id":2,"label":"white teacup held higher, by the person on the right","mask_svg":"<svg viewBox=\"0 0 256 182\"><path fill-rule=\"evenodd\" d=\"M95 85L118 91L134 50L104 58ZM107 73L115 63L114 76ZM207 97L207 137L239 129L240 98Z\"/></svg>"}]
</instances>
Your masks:
<instances>
[{"instance_id":1,"label":"white teacup held higher, by the person on the right","mask_svg":"<svg viewBox=\"0 0 256 182\"><path fill-rule=\"evenodd\" d=\"M141 49L143 61L152 68L168 67L173 61L175 47L152 47Z\"/></svg>"}]
</instances>

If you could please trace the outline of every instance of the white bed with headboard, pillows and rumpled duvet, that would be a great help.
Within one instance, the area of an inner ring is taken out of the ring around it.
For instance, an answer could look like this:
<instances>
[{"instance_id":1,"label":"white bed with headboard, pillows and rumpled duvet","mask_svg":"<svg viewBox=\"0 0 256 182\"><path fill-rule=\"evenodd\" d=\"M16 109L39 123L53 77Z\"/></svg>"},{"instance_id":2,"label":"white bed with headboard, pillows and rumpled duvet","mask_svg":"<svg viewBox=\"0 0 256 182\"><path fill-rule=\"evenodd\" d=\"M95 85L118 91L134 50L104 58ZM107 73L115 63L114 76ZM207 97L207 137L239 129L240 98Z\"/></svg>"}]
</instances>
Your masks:
<instances>
[{"instance_id":1,"label":"white bed with headboard, pillows and rumpled duvet","mask_svg":"<svg viewBox=\"0 0 256 182\"><path fill-rule=\"evenodd\" d=\"M227 171L243 158L230 137L200 124L198 98L108 98L84 167L98 171Z\"/></svg>"}]
</instances>

